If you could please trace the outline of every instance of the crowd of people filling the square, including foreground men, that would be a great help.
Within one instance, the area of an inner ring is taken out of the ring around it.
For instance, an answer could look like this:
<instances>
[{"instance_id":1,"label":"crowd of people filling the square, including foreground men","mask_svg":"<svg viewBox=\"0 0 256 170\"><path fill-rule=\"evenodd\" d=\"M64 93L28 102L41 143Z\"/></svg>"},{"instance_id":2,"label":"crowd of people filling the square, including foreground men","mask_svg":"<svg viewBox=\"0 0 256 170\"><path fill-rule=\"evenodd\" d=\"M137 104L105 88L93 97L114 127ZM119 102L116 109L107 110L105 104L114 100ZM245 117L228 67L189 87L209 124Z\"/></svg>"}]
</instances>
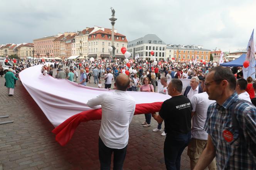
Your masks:
<instances>
[{"instance_id":1,"label":"crowd of people filling the square, including foreground men","mask_svg":"<svg viewBox=\"0 0 256 170\"><path fill-rule=\"evenodd\" d=\"M103 88L101 81L104 81L104 88L111 88L115 80L115 91L87 103L91 108L98 108L98 105L102 108L101 169L110 168L112 152L114 169L123 168L128 127L135 110L135 100L126 91L154 93L157 80L162 84L159 93L169 95L170 99L163 102L158 114L145 113L142 125L151 126L152 117L158 123L154 132L162 131L164 125L161 135L166 136L163 151L167 170L180 169L181 155L187 146L191 170L255 168L256 82L252 77L243 79L241 67L214 67L212 62L170 60L156 64L154 61L120 59L52 61L47 65L39 61L35 64L43 64L43 75L53 76L52 70L56 68L56 79L68 79L84 86L91 83L92 76L92 83L98 84L98 88ZM18 61L10 68L10 73L5 75L7 88L14 89L18 72L30 66L33 66L31 61ZM65 66L68 68L64 69ZM13 79L13 84L10 85L8 79ZM184 93L181 79L190 79ZM8 93L12 93L10 89ZM237 103L239 99L243 102ZM120 100L122 109L118 105Z\"/></svg>"}]
</instances>

